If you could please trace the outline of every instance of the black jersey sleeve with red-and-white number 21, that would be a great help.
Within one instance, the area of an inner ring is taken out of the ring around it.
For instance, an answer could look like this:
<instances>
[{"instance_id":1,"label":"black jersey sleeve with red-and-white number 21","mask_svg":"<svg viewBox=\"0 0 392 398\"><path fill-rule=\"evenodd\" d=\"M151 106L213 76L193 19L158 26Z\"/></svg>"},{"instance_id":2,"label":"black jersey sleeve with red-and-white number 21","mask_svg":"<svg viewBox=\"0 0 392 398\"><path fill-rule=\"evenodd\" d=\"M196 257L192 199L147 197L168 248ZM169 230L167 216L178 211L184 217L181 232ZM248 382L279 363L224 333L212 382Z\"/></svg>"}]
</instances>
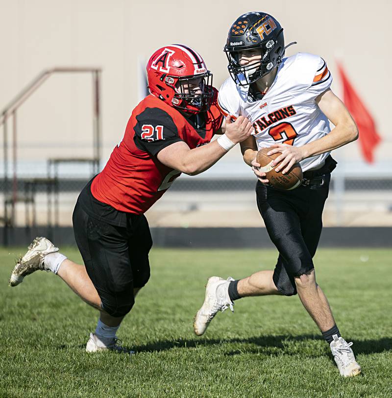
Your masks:
<instances>
[{"instance_id":1,"label":"black jersey sleeve with red-and-white number 21","mask_svg":"<svg viewBox=\"0 0 392 398\"><path fill-rule=\"evenodd\" d=\"M134 141L137 148L156 156L175 142L182 141L172 117L159 108L146 108L136 116Z\"/></svg>"}]
</instances>

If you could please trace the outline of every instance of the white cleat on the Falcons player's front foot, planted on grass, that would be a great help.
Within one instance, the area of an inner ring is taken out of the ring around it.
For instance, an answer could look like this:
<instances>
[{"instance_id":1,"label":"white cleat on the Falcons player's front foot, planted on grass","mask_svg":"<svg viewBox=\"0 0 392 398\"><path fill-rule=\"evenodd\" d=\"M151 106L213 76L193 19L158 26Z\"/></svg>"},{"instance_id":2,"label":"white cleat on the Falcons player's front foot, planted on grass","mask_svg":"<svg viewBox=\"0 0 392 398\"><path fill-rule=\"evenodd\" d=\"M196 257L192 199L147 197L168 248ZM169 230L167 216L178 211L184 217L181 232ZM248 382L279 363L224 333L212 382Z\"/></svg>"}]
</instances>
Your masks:
<instances>
[{"instance_id":1,"label":"white cleat on the Falcons player's front foot, planted on grass","mask_svg":"<svg viewBox=\"0 0 392 398\"><path fill-rule=\"evenodd\" d=\"M330 347L341 376L350 377L361 373L361 367L355 360L354 352L350 348L352 343L347 343L343 337L338 338L337 334L332 337L333 341Z\"/></svg>"}]
</instances>

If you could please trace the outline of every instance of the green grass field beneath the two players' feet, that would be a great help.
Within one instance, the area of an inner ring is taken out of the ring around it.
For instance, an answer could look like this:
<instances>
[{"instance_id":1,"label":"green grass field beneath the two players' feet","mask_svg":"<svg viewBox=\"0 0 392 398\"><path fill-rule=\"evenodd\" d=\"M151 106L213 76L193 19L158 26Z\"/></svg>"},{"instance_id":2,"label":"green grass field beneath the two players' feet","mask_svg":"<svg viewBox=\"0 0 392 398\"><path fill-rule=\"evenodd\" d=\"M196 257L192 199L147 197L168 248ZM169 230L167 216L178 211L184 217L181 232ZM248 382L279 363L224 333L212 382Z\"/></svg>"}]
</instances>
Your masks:
<instances>
[{"instance_id":1,"label":"green grass field beneath the two players' feet","mask_svg":"<svg viewBox=\"0 0 392 398\"><path fill-rule=\"evenodd\" d=\"M318 282L363 368L349 379L297 297L242 298L194 335L207 277L270 269L273 250L153 249L151 279L118 333L132 356L84 351L98 312L55 275L8 287L24 251L0 249L0 397L392 397L392 250L316 256Z\"/></svg>"}]
</instances>

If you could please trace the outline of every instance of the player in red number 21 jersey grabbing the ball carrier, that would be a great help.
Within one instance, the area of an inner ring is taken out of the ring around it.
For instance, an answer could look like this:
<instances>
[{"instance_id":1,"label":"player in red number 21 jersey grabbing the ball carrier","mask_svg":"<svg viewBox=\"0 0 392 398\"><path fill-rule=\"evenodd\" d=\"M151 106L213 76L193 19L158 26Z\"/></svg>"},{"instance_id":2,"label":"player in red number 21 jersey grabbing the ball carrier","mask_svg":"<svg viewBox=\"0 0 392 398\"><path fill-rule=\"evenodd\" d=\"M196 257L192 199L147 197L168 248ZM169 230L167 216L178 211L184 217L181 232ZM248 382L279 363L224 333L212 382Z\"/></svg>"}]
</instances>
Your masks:
<instances>
[{"instance_id":1,"label":"player in red number 21 jersey grabbing the ball carrier","mask_svg":"<svg viewBox=\"0 0 392 398\"><path fill-rule=\"evenodd\" d=\"M15 266L10 285L36 270L58 274L100 311L86 350L122 350L116 332L150 275L151 234L144 213L181 173L210 168L253 127L245 117L223 120L218 91L201 56L170 45L147 63L150 95L133 110L121 143L105 168L82 190L73 230L85 266L36 238ZM211 142L214 134L220 137Z\"/></svg>"}]
</instances>

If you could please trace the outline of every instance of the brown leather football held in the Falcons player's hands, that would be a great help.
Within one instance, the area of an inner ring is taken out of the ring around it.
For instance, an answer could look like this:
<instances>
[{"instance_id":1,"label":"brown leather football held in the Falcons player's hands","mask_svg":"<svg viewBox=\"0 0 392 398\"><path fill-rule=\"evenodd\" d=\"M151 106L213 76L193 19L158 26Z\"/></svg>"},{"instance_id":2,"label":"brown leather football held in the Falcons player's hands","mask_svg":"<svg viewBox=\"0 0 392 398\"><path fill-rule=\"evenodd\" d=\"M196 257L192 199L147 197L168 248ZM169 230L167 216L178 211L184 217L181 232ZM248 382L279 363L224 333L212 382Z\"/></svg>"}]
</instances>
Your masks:
<instances>
[{"instance_id":1,"label":"brown leather football held in the Falcons player's hands","mask_svg":"<svg viewBox=\"0 0 392 398\"><path fill-rule=\"evenodd\" d=\"M272 160L276 159L280 152L273 153L271 156L267 155L270 148L262 148L257 152L256 162L260 163L259 170L266 173L267 179L270 184L280 190L291 190L298 187L302 182L302 169L299 163L295 163L290 171L286 174L282 174L281 171L275 172L275 167L271 167ZM278 163L280 164L280 163Z\"/></svg>"}]
</instances>

